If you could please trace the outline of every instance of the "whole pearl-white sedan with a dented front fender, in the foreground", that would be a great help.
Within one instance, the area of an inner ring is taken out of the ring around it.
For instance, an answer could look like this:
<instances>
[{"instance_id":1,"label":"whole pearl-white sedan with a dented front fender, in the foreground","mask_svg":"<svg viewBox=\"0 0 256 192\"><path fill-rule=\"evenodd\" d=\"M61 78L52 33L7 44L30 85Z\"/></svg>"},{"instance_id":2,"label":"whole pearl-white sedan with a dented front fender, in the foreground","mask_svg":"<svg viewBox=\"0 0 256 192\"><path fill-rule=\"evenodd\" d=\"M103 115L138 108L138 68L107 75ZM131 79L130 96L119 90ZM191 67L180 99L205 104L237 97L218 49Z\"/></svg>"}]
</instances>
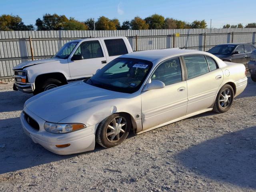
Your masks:
<instances>
[{"instance_id":1,"label":"whole pearl-white sedan with a dented front fender, in the foreground","mask_svg":"<svg viewBox=\"0 0 256 192\"><path fill-rule=\"evenodd\" d=\"M206 111L226 112L247 85L245 66L201 51L148 50L116 58L92 78L25 102L26 134L56 154L105 148Z\"/></svg>"}]
</instances>

